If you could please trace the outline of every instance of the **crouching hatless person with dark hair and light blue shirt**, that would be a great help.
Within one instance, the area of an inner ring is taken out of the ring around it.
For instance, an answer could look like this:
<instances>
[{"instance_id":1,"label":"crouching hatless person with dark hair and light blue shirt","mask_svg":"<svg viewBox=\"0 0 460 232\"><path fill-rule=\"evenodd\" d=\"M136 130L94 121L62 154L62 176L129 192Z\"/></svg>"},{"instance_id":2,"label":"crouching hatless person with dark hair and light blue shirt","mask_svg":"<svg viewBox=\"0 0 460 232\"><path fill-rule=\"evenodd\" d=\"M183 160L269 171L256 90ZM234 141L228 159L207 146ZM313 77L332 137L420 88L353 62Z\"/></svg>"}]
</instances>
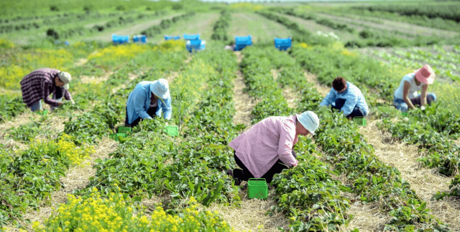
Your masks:
<instances>
[{"instance_id":1,"label":"crouching hatless person with dark hair and light blue shirt","mask_svg":"<svg viewBox=\"0 0 460 232\"><path fill-rule=\"evenodd\" d=\"M332 88L319 104L338 109L349 120L353 117L365 117L368 112L367 103L358 87L337 76L332 81Z\"/></svg>"}]
</instances>

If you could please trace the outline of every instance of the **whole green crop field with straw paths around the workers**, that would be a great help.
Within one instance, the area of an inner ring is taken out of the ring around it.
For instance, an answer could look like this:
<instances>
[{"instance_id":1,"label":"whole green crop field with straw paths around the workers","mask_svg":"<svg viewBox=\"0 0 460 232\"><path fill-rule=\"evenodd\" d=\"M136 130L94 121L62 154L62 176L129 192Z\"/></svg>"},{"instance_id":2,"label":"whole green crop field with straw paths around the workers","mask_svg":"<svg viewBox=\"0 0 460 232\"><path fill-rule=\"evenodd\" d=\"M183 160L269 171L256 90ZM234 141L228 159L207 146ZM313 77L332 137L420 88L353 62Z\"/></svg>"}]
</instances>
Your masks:
<instances>
[{"instance_id":1,"label":"whole green crop field with straw paths around the workers","mask_svg":"<svg viewBox=\"0 0 460 232\"><path fill-rule=\"evenodd\" d=\"M0 231L459 232L458 9L454 0L1 1ZM113 44L113 33L129 42ZM205 49L188 52L183 34L200 34ZM252 45L225 49L245 35ZM277 50L275 37L292 46ZM402 115L393 92L424 64L437 101ZM72 75L76 104L25 106L19 82L42 67ZM319 107L336 76L361 89L364 125ZM171 119L111 138L134 86L159 78ZM320 124L293 147L298 166L274 176L266 199L249 199L226 174L237 167L228 143L266 117L306 110Z\"/></svg>"}]
</instances>

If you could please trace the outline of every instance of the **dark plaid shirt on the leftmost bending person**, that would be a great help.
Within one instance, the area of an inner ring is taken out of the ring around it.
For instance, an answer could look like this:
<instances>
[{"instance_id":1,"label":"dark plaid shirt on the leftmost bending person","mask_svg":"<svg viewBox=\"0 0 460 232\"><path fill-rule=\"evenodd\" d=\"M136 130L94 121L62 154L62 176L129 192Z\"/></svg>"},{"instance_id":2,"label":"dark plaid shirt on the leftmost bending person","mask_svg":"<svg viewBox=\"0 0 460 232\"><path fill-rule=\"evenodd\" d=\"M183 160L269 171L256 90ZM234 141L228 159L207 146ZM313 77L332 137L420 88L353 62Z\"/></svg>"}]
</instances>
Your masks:
<instances>
[{"instance_id":1,"label":"dark plaid shirt on the leftmost bending person","mask_svg":"<svg viewBox=\"0 0 460 232\"><path fill-rule=\"evenodd\" d=\"M71 100L70 92L63 87L57 87L54 83L54 78L60 70L53 68L40 68L22 78L21 91L22 101L30 107L33 103L43 99L44 103L51 106L58 106L57 101L49 98L52 93L53 97L56 94L56 88L62 90L62 94L66 100Z\"/></svg>"}]
</instances>

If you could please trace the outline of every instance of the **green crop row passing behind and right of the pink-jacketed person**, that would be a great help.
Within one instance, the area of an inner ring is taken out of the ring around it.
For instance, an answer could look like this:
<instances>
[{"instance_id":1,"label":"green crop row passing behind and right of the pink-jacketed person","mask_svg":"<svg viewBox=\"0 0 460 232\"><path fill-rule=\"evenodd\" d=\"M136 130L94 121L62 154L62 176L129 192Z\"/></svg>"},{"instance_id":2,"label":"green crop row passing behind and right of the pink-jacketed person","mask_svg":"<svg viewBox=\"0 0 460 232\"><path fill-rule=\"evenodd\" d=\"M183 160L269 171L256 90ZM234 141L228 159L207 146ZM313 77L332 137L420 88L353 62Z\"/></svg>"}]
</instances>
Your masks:
<instances>
[{"instance_id":1,"label":"green crop row passing behind and right of the pink-jacketed person","mask_svg":"<svg viewBox=\"0 0 460 232\"><path fill-rule=\"evenodd\" d=\"M301 67L285 52L271 46L250 46L242 53L240 66L247 92L260 100L251 112L252 123L269 116L292 115L294 109L287 106L280 87L311 88L301 78ZM270 70L279 70L276 80ZM344 186L334 179L332 167L316 158L319 153L311 139L299 137L294 150L297 167L275 175L271 182L276 188L276 206L271 208L270 215L283 212L290 219L289 228L295 232L338 231L351 219L346 215L349 200L340 195Z\"/></svg>"}]
</instances>

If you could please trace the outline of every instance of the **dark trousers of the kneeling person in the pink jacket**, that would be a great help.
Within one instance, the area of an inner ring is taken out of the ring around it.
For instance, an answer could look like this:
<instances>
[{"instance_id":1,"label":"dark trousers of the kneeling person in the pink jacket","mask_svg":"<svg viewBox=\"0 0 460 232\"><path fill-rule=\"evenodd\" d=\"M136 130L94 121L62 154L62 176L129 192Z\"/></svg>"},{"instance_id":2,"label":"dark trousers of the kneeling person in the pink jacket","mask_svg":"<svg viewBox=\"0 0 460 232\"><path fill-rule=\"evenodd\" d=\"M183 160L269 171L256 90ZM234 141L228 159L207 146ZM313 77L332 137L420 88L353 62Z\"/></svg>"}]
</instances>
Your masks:
<instances>
[{"instance_id":1,"label":"dark trousers of the kneeling person in the pink jacket","mask_svg":"<svg viewBox=\"0 0 460 232\"><path fill-rule=\"evenodd\" d=\"M292 155L297 158L297 155L292 150ZM233 178L238 178L240 181L247 181L249 178L254 178L254 176L249 172L249 170L244 166L244 164L236 157L236 152L233 153L233 157L235 158L235 162L241 169L233 169ZM280 159L276 161L276 163L265 173L262 177L264 178L266 183L270 183L273 180L273 176L276 173L281 173L283 169L289 168L287 165L282 163Z\"/></svg>"}]
</instances>

